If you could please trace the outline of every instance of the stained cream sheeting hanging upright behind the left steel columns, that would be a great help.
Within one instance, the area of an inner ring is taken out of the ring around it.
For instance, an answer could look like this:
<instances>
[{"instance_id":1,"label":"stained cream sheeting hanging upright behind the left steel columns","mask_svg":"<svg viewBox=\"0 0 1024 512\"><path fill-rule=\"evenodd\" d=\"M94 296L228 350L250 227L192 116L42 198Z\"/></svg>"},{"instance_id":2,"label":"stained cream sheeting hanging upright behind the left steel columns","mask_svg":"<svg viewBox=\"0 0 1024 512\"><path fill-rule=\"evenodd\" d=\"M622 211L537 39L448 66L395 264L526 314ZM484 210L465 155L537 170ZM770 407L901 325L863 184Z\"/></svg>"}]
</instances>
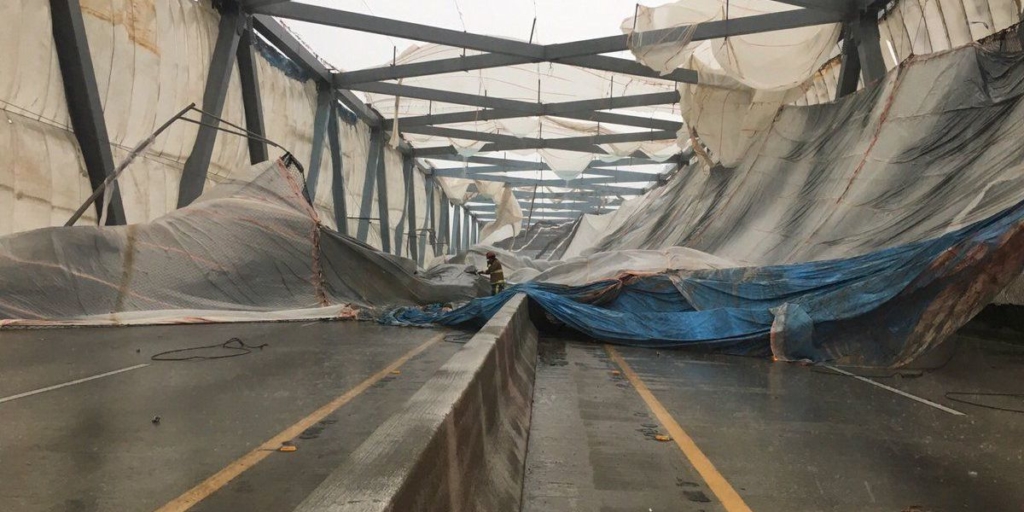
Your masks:
<instances>
[{"instance_id":1,"label":"stained cream sheeting hanging upright behind the left steel columns","mask_svg":"<svg viewBox=\"0 0 1024 512\"><path fill-rule=\"evenodd\" d=\"M189 102L203 103L210 58L217 39L219 14L209 1L83 0L82 11L95 68L114 160L143 140L157 126ZM71 129L63 86L53 47L49 3L37 0L0 2L0 234L60 225L91 194L81 152ZM267 137L306 163L312 153L316 87L311 80L290 78L267 55L263 45L256 65ZM276 55L273 55L276 56ZM280 57L279 57L280 58ZM43 62L44 66L40 66ZM195 115L193 115L195 117ZM241 83L232 69L221 117L244 125ZM362 123L339 121L342 176L349 232L356 232L370 145ZM173 211L178 182L196 139L197 126L179 122L156 139L118 181L131 223L146 222ZM404 218L401 158L385 148L386 185L392 239ZM231 179L248 165L244 138L220 133L214 147L207 186ZM332 155L325 140L315 208L335 225ZM426 217L422 176L416 181L417 222ZM377 217L377 184L372 189ZM93 209L81 223L94 223ZM381 247L380 226L372 224L368 242ZM392 244L406 252L404 244Z\"/></svg>"}]
</instances>

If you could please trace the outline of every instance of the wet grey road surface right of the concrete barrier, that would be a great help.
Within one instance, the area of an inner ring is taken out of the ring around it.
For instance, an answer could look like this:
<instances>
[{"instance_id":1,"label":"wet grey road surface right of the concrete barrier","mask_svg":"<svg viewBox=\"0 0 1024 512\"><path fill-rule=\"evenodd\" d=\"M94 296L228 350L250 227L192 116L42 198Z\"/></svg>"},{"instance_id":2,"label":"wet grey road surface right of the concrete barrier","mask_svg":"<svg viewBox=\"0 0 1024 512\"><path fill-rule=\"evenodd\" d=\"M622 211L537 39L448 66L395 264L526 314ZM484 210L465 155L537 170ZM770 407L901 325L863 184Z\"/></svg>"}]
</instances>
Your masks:
<instances>
[{"instance_id":1,"label":"wet grey road surface right of the concrete barrier","mask_svg":"<svg viewBox=\"0 0 1024 512\"><path fill-rule=\"evenodd\" d=\"M1022 511L1024 414L946 393L1024 392L1024 345L956 342L935 370L846 370L964 416L823 368L615 349L743 509L654 438L666 425L603 346L542 340L523 510Z\"/></svg>"}]
</instances>

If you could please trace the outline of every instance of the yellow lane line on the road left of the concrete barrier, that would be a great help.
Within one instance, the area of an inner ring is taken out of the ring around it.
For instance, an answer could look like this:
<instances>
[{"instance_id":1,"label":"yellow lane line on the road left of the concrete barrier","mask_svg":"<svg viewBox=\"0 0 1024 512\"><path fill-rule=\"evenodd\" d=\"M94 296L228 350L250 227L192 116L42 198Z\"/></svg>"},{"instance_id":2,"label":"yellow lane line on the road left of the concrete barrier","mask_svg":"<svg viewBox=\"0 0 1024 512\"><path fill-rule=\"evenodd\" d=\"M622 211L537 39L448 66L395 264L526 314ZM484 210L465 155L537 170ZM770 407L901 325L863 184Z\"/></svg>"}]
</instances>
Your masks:
<instances>
[{"instance_id":1,"label":"yellow lane line on the road left of the concrete barrier","mask_svg":"<svg viewBox=\"0 0 1024 512\"><path fill-rule=\"evenodd\" d=\"M281 447L281 445L285 441L290 441L295 437L298 437L298 435L301 434L304 430L315 425L321 420L327 418L345 403L351 401L352 398L355 398L367 389L370 389L370 386L376 384L377 381L387 377L388 375L391 374L391 372L397 370L399 367L408 362L409 359L412 359L420 352L426 350L428 347L430 347L430 345L437 343L443 337L444 337L443 334L434 336L433 338L427 340L422 345L406 352L401 357L398 357L397 359L392 361L385 369L370 376L367 380L360 382L357 386L349 389L348 391L345 391L344 394L331 400L326 406L317 409L309 416L299 420L299 422L296 423L295 425L292 425L291 427L282 430L281 433L267 439L266 442L260 444L252 452L249 452L248 454L242 456L237 461L228 464L220 471L217 471L206 480L200 482L199 485L196 485L195 487L185 492L183 495L168 502L167 505L160 507L159 509L157 509L157 512L184 512L185 510L193 508L197 503L205 500L210 495L222 488L224 485L227 485L227 482L233 480L237 476L246 472L253 466L259 464L260 461L269 457L270 454L276 452L276 450Z\"/></svg>"}]
</instances>

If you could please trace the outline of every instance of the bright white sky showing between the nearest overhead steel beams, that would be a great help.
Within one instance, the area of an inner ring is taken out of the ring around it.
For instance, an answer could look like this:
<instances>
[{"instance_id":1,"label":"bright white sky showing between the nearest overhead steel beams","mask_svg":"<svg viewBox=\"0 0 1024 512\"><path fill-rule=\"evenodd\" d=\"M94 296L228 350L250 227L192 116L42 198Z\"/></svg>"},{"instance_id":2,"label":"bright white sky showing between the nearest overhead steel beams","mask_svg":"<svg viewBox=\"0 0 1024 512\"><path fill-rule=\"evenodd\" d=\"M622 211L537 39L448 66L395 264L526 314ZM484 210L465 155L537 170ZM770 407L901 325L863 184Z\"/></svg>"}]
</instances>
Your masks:
<instances>
[{"instance_id":1,"label":"bright white sky showing between the nearest overhead steel beams","mask_svg":"<svg viewBox=\"0 0 1024 512\"><path fill-rule=\"evenodd\" d=\"M663 1L643 1L658 5ZM623 19L633 15L632 0L301 0L341 10L430 25L476 34L562 43L621 34ZM381 66L414 44L403 39L331 27L285 22L313 50L344 71Z\"/></svg>"}]
</instances>

